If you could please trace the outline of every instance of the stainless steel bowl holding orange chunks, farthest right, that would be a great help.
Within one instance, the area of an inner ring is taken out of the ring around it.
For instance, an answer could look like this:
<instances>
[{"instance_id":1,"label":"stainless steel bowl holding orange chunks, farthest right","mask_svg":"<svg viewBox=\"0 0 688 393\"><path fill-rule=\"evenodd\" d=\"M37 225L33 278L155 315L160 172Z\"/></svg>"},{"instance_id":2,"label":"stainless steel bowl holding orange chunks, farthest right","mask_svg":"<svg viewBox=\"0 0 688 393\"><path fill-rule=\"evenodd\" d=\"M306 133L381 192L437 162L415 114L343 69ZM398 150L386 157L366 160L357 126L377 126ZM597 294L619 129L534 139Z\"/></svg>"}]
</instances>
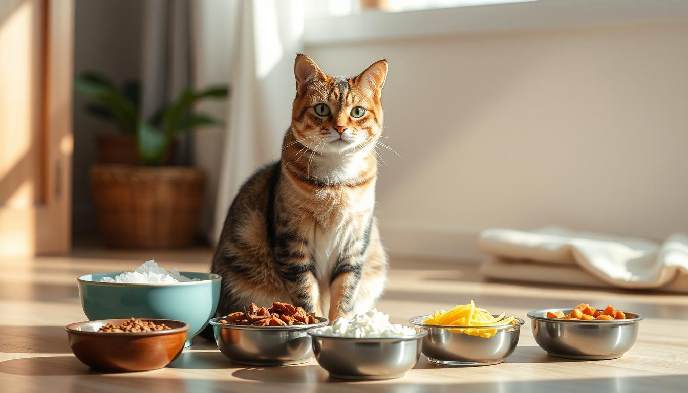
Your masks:
<instances>
[{"instance_id":1,"label":"stainless steel bowl holding orange chunks, farthest right","mask_svg":"<svg viewBox=\"0 0 688 393\"><path fill-rule=\"evenodd\" d=\"M548 308L528 312L533 320L533 336L540 348L566 359L616 359L630 350L638 337L640 314L625 312L627 319L612 321L572 321L552 319L547 312L571 312L571 308Z\"/></svg>"}]
</instances>

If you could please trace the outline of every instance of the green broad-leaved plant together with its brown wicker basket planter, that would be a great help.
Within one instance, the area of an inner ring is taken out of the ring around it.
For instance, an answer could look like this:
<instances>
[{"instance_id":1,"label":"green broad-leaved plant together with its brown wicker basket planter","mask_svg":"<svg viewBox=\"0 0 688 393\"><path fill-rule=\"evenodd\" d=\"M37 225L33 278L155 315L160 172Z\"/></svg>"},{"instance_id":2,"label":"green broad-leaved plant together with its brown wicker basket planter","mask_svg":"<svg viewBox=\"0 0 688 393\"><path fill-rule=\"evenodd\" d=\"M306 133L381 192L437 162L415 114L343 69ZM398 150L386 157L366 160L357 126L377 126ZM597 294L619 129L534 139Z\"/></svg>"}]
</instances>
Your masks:
<instances>
[{"instance_id":1,"label":"green broad-leaved plant together with its brown wicker basket planter","mask_svg":"<svg viewBox=\"0 0 688 393\"><path fill-rule=\"evenodd\" d=\"M98 225L107 246L166 248L189 246L197 229L206 180L193 167L169 165L175 140L199 127L219 124L193 111L206 98L224 98L227 87L186 88L149 119L138 105L138 83L118 88L94 72L75 80L78 94L89 98L87 111L117 125L118 138L99 138L102 164L90 180Z\"/></svg>"}]
</instances>

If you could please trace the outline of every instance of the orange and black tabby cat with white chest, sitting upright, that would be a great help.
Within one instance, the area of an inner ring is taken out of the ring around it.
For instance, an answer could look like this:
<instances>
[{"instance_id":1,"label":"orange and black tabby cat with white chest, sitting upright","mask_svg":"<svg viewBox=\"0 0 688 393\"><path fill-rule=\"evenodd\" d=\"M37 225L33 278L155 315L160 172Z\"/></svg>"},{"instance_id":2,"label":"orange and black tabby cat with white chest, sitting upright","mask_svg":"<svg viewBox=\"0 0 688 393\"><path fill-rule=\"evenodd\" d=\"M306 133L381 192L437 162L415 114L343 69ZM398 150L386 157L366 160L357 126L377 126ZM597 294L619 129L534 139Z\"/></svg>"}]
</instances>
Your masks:
<instances>
[{"instance_id":1,"label":"orange and black tabby cat with white chest, sitting upright","mask_svg":"<svg viewBox=\"0 0 688 393\"><path fill-rule=\"evenodd\" d=\"M343 78L299 54L294 73L281 160L241 187L213 258L219 315L284 301L334 321L371 308L385 286L374 149L387 61Z\"/></svg>"}]
</instances>

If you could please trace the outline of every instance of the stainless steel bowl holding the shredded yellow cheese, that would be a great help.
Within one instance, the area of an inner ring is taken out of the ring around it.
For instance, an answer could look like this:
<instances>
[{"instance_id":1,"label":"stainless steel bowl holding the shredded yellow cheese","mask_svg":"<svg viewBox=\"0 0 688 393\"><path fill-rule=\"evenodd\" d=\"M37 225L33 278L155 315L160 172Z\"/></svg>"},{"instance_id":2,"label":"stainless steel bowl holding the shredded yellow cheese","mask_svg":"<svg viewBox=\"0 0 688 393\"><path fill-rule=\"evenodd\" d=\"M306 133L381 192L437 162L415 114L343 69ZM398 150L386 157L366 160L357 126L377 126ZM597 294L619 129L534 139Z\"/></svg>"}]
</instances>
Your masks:
<instances>
[{"instance_id":1,"label":"stainless steel bowl holding the shredded yellow cheese","mask_svg":"<svg viewBox=\"0 0 688 393\"><path fill-rule=\"evenodd\" d=\"M411 325L429 333L423 339L423 354L433 363L458 367L502 363L514 352L521 326L524 324L523 319L516 318L516 323L508 325L481 326L483 329L497 329L493 337L486 339L458 330L475 329L475 326L433 325L424 323L425 319L427 315L409 319Z\"/></svg>"}]
</instances>

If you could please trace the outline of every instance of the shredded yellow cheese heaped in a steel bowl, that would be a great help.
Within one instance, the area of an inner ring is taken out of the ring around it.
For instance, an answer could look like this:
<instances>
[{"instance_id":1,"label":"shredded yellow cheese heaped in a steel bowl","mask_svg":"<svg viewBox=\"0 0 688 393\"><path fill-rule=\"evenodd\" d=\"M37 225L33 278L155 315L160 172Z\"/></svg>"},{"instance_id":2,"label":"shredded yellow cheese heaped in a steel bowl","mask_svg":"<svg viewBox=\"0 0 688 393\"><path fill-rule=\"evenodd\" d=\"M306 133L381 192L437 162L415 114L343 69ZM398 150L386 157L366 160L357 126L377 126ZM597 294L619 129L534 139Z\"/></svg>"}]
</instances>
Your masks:
<instances>
[{"instance_id":1,"label":"shredded yellow cheese heaped in a steel bowl","mask_svg":"<svg viewBox=\"0 0 688 393\"><path fill-rule=\"evenodd\" d=\"M425 323L431 325L462 326L462 328L452 329L454 332L471 334L471 336L489 339L495 337L496 328L480 328L480 326L503 326L509 323L516 323L515 317L504 318L504 312L499 317L493 317L484 308L475 307L471 304L460 304L449 311L435 310L434 315L428 315ZM463 326L475 326L476 328L463 328Z\"/></svg>"}]
</instances>

